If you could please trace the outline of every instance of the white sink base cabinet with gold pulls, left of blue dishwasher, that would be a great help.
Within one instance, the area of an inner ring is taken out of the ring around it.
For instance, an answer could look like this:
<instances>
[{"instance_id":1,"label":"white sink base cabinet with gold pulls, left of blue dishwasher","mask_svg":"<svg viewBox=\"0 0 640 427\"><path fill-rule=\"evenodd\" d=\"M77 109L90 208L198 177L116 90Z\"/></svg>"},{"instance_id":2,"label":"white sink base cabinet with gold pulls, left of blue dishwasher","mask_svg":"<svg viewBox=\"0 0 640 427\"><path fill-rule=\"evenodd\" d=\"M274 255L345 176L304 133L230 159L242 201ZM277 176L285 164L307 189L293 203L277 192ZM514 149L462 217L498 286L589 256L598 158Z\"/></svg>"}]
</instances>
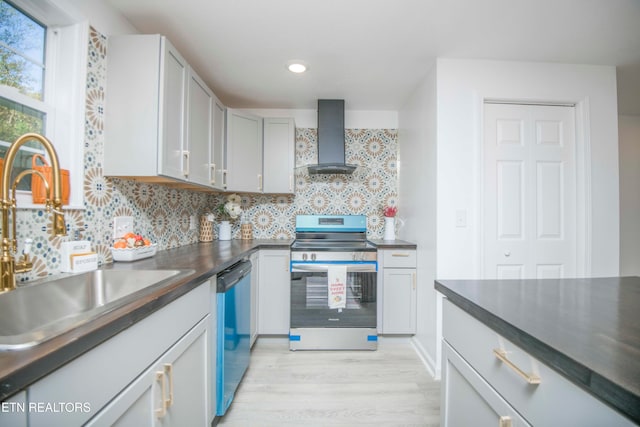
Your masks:
<instances>
[{"instance_id":1,"label":"white sink base cabinet with gold pulls, left of blue dishwasher","mask_svg":"<svg viewBox=\"0 0 640 427\"><path fill-rule=\"evenodd\" d=\"M209 331L206 281L30 386L28 403L76 407L29 426L207 425Z\"/></svg>"}]
</instances>

